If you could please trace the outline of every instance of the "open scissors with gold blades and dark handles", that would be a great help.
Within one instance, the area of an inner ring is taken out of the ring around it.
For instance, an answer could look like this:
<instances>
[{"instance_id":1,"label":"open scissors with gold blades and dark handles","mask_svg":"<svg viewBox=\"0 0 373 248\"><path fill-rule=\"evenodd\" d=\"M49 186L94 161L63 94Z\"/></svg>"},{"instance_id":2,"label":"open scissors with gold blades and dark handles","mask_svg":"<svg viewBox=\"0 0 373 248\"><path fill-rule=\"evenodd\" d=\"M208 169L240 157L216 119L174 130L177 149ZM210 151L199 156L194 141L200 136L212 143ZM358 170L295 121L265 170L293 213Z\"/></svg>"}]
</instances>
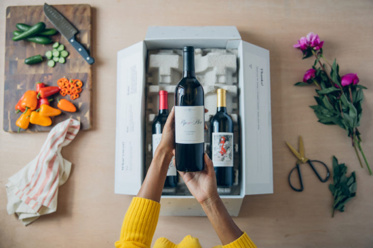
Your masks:
<instances>
[{"instance_id":1,"label":"open scissors with gold blades and dark handles","mask_svg":"<svg viewBox=\"0 0 373 248\"><path fill-rule=\"evenodd\" d=\"M299 165L304 164L304 163L308 163L311 166L312 170L318 176L318 178L319 178L320 181L326 182L329 179L329 176L330 176L329 169L328 169L328 167L326 166L325 163L323 163L323 162L321 162L319 160L309 160L308 158L304 157L304 145L303 145L302 136L299 136L299 152L296 149L294 149L294 147L291 146L288 142L286 142L286 145L289 146L290 150L294 153L295 157L298 158L297 165L289 173L289 184L290 184L290 187L292 187L293 190L301 192L304 189L303 188L302 174L300 172L300 167L299 167ZM327 175L326 175L326 177L324 179L321 178L319 172L314 168L314 166L313 166L312 163L320 163L320 164L322 164L325 167ZM299 176L299 181L300 181L300 187L301 187L300 189L295 188L292 185L291 181L290 181L290 176L292 175L292 173L293 173L293 171L295 169L297 169L297 171L298 171L298 176Z\"/></svg>"}]
</instances>

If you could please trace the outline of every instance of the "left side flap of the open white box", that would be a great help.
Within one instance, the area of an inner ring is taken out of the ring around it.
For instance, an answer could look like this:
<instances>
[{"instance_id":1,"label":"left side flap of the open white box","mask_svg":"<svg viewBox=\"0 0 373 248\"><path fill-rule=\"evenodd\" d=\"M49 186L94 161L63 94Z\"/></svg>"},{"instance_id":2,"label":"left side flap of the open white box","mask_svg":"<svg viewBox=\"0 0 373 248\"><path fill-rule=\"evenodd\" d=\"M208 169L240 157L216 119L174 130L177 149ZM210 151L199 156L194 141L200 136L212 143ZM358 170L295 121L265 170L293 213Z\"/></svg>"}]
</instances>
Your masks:
<instances>
[{"instance_id":1,"label":"left side flap of the open white box","mask_svg":"<svg viewBox=\"0 0 373 248\"><path fill-rule=\"evenodd\" d=\"M116 194L136 195L144 177L144 41L117 54ZM141 123L139 125L139 123Z\"/></svg>"}]
</instances>

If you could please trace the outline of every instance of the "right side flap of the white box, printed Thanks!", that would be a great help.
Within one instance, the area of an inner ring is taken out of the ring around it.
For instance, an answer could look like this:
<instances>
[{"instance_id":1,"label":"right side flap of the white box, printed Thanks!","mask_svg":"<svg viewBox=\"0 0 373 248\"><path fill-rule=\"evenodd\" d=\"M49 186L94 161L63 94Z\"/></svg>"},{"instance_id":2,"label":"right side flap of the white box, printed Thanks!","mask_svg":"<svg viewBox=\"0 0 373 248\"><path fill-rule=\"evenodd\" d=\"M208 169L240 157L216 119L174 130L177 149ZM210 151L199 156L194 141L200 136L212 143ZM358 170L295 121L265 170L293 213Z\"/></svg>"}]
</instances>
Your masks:
<instances>
[{"instance_id":1,"label":"right side flap of the white box, printed Thanks!","mask_svg":"<svg viewBox=\"0 0 373 248\"><path fill-rule=\"evenodd\" d=\"M244 41L238 50L245 195L269 194L273 193L269 51Z\"/></svg>"}]
</instances>

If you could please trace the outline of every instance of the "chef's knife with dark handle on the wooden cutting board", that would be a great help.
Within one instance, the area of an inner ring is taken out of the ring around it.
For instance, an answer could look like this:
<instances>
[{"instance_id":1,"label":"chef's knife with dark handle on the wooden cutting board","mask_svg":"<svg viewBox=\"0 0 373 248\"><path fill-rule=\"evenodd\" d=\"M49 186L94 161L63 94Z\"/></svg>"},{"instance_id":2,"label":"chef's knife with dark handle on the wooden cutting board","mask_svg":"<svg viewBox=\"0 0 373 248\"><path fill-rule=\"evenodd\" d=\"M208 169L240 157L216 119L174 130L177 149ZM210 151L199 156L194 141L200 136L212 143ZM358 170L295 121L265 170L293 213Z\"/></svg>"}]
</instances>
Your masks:
<instances>
[{"instance_id":1,"label":"chef's knife with dark handle on the wooden cutting board","mask_svg":"<svg viewBox=\"0 0 373 248\"><path fill-rule=\"evenodd\" d=\"M79 42L75 40L75 34L78 33L78 30L52 6L44 4L43 10L45 16L79 52L79 54L85 59L85 61L87 61L90 65L95 63L95 59L90 56L90 53L85 50L85 48Z\"/></svg>"}]
</instances>

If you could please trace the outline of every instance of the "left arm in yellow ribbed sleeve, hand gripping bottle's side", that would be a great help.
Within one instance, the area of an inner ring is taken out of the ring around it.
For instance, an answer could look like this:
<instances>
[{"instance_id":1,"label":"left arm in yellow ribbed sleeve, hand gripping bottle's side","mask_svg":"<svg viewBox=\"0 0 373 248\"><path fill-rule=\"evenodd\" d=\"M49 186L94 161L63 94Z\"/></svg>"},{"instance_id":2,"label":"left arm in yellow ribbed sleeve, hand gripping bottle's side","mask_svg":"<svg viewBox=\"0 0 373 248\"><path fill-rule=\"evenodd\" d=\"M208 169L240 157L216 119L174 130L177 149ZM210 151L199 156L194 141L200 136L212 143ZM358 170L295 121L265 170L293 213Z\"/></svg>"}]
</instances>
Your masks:
<instances>
[{"instance_id":1,"label":"left arm in yellow ribbed sleeve, hand gripping bottle's side","mask_svg":"<svg viewBox=\"0 0 373 248\"><path fill-rule=\"evenodd\" d=\"M150 247L157 226L160 198L174 148L174 109L168 115L162 139L154 153L147 175L125 215L116 247Z\"/></svg>"}]
</instances>

